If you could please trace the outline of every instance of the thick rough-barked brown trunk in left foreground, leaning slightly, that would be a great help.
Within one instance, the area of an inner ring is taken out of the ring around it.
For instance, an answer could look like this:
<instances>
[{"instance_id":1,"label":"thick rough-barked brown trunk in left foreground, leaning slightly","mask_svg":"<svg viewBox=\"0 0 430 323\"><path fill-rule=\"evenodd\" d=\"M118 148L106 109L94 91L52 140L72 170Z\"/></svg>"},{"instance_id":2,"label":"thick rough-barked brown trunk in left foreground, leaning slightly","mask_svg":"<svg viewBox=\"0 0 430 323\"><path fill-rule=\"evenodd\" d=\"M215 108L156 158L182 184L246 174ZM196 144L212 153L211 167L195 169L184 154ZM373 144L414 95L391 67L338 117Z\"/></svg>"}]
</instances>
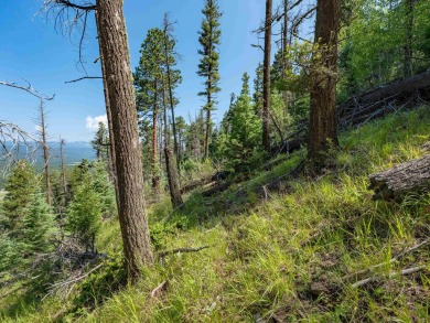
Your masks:
<instances>
[{"instance_id":1,"label":"thick rough-barked brown trunk in left foreground, leaning slightly","mask_svg":"<svg viewBox=\"0 0 430 323\"><path fill-rule=\"evenodd\" d=\"M97 0L98 34L111 110L119 224L128 278L153 262L143 198L138 120L121 0Z\"/></svg>"}]
</instances>

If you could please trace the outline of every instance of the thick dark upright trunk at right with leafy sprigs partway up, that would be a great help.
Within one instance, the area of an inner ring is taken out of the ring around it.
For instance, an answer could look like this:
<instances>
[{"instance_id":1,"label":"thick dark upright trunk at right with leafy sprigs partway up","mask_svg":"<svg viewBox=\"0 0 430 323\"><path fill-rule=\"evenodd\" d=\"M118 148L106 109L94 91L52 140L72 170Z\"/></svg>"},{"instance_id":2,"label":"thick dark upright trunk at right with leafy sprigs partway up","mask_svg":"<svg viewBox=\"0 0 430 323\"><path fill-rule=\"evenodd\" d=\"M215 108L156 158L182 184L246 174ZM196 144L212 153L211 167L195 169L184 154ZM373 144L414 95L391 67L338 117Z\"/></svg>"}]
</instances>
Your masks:
<instances>
[{"instance_id":1,"label":"thick dark upright trunk at right with leafy sprigs partway up","mask_svg":"<svg viewBox=\"0 0 430 323\"><path fill-rule=\"evenodd\" d=\"M316 4L308 147L308 158L315 166L324 163L330 148L338 146L336 78L340 8L340 0L319 0Z\"/></svg>"}]
</instances>

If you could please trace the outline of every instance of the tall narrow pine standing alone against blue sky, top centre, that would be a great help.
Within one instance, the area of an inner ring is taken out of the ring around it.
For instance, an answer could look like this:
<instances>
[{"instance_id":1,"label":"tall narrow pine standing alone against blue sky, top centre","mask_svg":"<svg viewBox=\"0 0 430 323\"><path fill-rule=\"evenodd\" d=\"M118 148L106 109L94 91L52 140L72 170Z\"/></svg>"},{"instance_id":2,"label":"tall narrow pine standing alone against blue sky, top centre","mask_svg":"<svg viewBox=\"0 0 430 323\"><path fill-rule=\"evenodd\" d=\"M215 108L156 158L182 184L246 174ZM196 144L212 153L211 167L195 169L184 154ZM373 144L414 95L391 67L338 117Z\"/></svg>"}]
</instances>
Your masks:
<instances>
[{"instance_id":1,"label":"tall narrow pine standing alone against blue sky, top centre","mask_svg":"<svg viewBox=\"0 0 430 323\"><path fill-rule=\"evenodd\" d=\"M204 158L207 159L212 131L211 112L215 109L216 94L221 90L218 87L219 53L217 45L221 44L219 19L222 13L216 0L206 0L202 13L204 19L202 21L202 30L198 32L198 42L203 49L198 51L202 58L197 74L205 78L205 89L198 93L198 95L206 97L206 104L203 109L206 111Z\"/></svg>"}]
</instances>

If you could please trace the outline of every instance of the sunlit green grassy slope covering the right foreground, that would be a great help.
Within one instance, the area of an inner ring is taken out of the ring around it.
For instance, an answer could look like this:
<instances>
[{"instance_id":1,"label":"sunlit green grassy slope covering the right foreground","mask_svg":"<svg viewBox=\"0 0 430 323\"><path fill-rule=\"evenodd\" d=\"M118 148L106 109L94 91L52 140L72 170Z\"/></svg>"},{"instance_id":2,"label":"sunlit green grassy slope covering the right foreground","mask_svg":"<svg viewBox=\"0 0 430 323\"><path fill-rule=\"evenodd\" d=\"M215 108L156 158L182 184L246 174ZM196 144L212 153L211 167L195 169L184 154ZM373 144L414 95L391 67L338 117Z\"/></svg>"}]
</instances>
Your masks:
<instances>
[{"instance_id":1,"label":"sunlit green grassy slope covering the right foreground","mask_svg":"<svg viewBox=\"0 0 430 323\"><path fill-rule=\"evenodd\" d=\"M160 203L151 209L159 249L211 248L169 256L138 286L114 293L93 312L73 315L72 300L32 305L13 295L0 299L0 321L254 322L275 315L286 322L428 322L428 248L398 262L388 259L430 235L430 196L411 196L401 205L374 202L366 186L369 173L424 153L429 119L427 107L344 133L336 171L314 181L294 179L287 194L269 193L266 203L261 184L293 169L303 152L218 196L194 192L163 224L159 219L170 209ZM106 224L100 249L119 251L118 241L117 226ZM377 282L353 289L354 279L344 278L384 261L374 270L383 277ZM416 265L427 269L385 276ZM151 299L163 280L165 294Z\"/></svg>"}]
</instances>

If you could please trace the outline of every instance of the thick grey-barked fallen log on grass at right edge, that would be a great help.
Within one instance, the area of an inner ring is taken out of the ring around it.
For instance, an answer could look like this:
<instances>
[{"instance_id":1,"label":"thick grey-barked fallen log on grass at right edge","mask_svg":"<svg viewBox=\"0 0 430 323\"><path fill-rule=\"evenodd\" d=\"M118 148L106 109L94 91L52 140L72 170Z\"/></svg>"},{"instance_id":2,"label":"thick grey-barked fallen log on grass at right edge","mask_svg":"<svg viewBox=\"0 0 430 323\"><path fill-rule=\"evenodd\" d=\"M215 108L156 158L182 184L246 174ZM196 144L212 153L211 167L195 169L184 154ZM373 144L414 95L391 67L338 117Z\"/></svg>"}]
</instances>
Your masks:
<instances>
[{"instance_id":1,"label":"thick grey-barked fallen log on grass at right edge","mask_svg":"<svg viewBox=\"0 0 430 323\"><path fill-rule=\"evenodd\" d=\"M430 191L430 154L369 175L374 200L400 201L409 193Z\"/></svg>"}]
</instances>

